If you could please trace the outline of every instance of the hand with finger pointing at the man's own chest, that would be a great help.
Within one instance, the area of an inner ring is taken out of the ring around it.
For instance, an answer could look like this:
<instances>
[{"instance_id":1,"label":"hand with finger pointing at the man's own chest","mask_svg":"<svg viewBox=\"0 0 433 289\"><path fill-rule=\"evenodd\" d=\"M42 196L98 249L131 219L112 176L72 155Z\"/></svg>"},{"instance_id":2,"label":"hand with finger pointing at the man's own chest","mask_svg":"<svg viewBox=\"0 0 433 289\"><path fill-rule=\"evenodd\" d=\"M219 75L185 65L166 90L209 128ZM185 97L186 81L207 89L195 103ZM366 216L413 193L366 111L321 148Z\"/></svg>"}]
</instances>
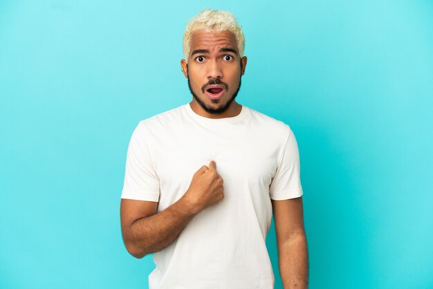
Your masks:
<instances>
[{"instance_id":1,"label":"hand with finger pointing at the man's own chest","mask_svg":"<svg viewBox=\"0 0 433 289\"><path fill-rule=\"evenodd\" d=\"M195 172L190 187L183 197L194 214L198 214L224 198L223 178L216 171L214 160L209 162L209 167L203 165Z\"/></svg>"}]
</instances>

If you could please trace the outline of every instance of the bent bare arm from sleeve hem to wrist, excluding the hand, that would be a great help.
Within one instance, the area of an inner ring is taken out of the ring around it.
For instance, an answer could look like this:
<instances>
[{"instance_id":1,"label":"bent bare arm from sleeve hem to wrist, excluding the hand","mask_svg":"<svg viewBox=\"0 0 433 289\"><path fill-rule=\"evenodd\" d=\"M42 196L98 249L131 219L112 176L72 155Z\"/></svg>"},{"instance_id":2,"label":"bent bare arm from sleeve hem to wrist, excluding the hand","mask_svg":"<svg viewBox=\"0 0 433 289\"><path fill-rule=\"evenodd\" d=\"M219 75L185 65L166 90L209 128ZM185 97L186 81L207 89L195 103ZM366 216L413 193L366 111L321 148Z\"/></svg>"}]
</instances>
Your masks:
<instances>
[{"instance_id":1,"label":"bent bare arm from sleeve hem to wrist, excluding the hand","mask_svg":"<svg viewBox=\"0 0 433 289\"><path fill-rule=\"evenodd\" d=\"M122 236L133 257L140 259L167 247L196 214L184 197L158 214L157 207L158 202L122 198Z\"/></svg>"}]
</instances>

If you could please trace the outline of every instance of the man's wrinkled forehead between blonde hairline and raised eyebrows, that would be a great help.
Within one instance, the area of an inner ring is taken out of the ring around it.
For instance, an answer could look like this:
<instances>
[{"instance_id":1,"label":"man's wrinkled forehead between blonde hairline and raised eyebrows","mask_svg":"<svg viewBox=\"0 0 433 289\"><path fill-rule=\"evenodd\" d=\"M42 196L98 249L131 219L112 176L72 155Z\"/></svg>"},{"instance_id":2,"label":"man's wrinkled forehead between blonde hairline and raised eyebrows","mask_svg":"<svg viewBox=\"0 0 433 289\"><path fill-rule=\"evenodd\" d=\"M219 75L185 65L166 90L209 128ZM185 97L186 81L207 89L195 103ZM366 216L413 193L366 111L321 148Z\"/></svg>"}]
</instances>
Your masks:
<instances>
[{"instance_id":1,"label":"man's wrinkled forehead between blonde hairline and raised eyebrows","mask_svg":"<svg viewBox=\"0 0 433 289\"><path fill-rule=\"evenodd\" d=\"M210 48L211 46L225 46L237 50L237 40L230 31L196 30L192 33L191 48Z\"/></svg>"}]
</instances>

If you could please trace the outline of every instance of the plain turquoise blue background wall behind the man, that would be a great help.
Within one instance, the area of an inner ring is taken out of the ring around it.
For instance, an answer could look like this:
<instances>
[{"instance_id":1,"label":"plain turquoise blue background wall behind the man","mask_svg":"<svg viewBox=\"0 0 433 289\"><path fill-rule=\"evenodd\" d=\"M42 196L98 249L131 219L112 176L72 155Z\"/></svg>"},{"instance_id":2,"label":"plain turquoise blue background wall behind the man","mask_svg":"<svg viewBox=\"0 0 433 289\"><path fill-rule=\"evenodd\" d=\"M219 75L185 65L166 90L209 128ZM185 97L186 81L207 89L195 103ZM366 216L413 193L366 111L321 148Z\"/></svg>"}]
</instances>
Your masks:
<instances>
[{"instance_id":1,"label":"plain turquoise blue background wall behind the man","mask_svg":"<svg viewBox=\"0 0 433 289\"><path fill-rule=\"evenodd\" d=\"M0 1L0 288L147 288L120 232L139 120L192 100L185 24L231 10L239 103L300 148L310 288L433 288L432 1ZM266 240L276 288L275 227Z\"/></svg>"}]
</instances>

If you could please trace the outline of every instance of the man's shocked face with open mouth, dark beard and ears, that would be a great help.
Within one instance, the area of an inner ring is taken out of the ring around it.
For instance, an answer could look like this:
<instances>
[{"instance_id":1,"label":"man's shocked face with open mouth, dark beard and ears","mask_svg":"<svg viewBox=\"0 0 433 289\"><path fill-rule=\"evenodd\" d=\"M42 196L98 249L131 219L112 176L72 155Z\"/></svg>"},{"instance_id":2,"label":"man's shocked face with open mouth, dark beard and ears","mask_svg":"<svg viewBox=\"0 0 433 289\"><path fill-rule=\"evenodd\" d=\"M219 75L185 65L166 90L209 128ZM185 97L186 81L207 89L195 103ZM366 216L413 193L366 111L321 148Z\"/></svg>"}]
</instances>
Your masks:
<instances>
[{"instance_id":1,"label":"man's shocked face with open mouth, dark beard and ears","mask_svg":"<svg viewBox=\"0 0 433 289\"><path fill-rule=\"evenodd\" d=\"M207 113L226 111L239 92L246 57L239 57L232 32L192 34L188 64L181 62L194 99Z\"/></svg>"}]
</instances>

